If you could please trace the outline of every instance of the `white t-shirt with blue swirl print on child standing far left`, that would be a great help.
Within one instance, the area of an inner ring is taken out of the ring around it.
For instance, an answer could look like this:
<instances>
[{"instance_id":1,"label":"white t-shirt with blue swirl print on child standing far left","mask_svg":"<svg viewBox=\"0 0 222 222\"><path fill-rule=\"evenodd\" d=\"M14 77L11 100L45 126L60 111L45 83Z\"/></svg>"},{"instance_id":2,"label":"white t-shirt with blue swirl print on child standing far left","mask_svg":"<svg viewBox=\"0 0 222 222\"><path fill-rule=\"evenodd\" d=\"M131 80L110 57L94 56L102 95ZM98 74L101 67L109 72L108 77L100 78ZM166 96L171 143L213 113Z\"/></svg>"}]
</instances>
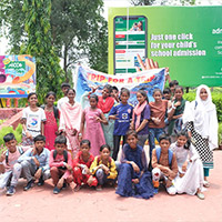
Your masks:
<instances>
[{"instance_id":1,"label":"white t-shirt with blue swirl print on child standing far left","mask_svg":"<svg viewBox=\"0 0 222 222\"><path fill-rule=\"evenodd\" d=\"M22 111L22 119L27 120L27 131L31 133L33 138L41 134L41 122L47 120L44 110L39 108L38 111L33 112L30 107L28 107ZM26 134L23 130L22 133Z\"/></svg>"}]
</instances>

